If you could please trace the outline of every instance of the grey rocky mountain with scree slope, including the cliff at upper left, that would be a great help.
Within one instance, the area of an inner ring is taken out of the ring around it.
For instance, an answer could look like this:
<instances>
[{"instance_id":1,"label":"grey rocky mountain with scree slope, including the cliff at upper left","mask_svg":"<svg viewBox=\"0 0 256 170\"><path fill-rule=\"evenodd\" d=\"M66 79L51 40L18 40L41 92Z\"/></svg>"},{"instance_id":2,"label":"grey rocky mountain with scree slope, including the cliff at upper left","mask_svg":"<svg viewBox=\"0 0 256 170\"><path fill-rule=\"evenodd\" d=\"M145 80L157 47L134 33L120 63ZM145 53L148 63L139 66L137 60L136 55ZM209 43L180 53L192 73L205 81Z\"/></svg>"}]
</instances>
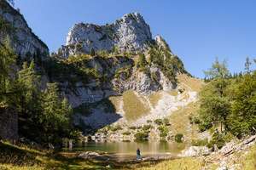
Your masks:
<instances>
[{"instance_id":1,"label":"grey rocky mountain with scree slope, including the cliff at upper left","mask_svg":"<svg viewBox=\"0 0 256 170\"><path fill-rule=\"evenodd\" d=\"M164 119L197 100L193 84L201 82L190 77L163 37L152 38L141 14L125 14L105 26L76 24L66 45L46 57L47 46L23 16L5 1L0 5L1 22L10 28L1 33L9 35L21 59L38 54L42 84L58 82L73 106L73 123L83 131L120 125L119 133L125 133L129 126Z\"/></svg>"}]
</instances>

